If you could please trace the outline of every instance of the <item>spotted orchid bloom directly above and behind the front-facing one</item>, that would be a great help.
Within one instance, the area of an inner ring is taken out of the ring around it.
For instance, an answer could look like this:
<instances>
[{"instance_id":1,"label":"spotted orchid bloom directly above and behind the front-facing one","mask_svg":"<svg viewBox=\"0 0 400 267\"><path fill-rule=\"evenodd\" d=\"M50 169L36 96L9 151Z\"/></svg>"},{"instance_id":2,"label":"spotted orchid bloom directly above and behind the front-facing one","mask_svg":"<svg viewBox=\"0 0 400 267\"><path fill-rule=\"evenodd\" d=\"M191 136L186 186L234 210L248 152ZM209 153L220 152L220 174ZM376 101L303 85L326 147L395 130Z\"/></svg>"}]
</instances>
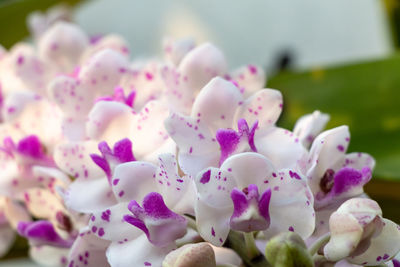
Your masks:
<instances>
[{"instance_id":1,"label":"spotted orchid bloom directly above and behind the front-facing one","mask_svg":"<svg viewBox=\"0 0 400 267\"><path fill-rule=\"evenodd\" d=\"M244 151L261 153L278 168L290 168L306 151L292 133L274 126L281 110L282 96L276 90L264 89L243 99L233 83L214 78L196 97L191 116L172 113L165 125L179 147L180 167L192 176ZM238 132L231 130L236 123Z\"/></svg>"}]
</instances>

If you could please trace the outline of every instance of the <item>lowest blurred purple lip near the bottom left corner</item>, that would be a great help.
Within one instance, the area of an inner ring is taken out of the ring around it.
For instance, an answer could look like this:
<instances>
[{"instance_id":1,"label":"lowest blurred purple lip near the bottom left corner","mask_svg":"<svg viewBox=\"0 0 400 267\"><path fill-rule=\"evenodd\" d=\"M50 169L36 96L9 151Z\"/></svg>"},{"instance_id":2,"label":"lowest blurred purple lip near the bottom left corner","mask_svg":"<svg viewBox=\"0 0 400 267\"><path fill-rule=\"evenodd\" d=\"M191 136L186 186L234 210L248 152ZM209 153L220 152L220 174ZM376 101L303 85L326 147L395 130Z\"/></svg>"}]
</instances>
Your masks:
<instances>
[{"instance_id":1,"label":"lowest blurred purple lip near the bottom left corner","mask_svg":"<svg viewBox=\"0 0 400 267\"><path fill-rule=\"evenodd\" d=\"M35 246L50 245L67 248L73 242L73 240L60 237L49 221L20 222L17 231Z\"/></svg>"}]
</instances>

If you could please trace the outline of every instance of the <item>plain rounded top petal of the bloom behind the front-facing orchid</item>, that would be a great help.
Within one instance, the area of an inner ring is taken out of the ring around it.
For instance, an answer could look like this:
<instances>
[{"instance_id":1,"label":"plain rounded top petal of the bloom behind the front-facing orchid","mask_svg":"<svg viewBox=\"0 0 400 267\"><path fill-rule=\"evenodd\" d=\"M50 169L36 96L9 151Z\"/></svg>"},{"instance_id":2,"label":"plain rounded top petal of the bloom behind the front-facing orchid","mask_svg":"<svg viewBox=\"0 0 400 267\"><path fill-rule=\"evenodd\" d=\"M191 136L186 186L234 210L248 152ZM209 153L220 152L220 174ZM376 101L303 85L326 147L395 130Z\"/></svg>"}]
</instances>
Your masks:
<instances>
[{"instance_id":1,"label":"plain rounded top petal of the bloom behind the front-facing orchid","mask_svg":"<svg viewBox=\"0 0 400 267\"><path fill-rule=\"evenodd\" d=\"M220 128L232 127L235 111L242 99L233 83L216 77L197 95L191 116L207 124L215 134Z\"/></svg>"}]
</instances>

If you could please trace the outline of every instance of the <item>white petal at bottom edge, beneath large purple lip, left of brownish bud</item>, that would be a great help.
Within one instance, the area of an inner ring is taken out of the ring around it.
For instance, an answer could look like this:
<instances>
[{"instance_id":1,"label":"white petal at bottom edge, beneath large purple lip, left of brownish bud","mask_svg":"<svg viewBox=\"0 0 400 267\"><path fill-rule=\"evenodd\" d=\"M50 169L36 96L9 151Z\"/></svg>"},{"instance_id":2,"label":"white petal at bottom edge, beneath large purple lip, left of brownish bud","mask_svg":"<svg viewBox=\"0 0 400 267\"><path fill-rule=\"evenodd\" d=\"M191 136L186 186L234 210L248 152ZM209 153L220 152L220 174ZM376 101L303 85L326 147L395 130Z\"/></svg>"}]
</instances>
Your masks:
<instances>
[{"instance_id":1,"label":"white petal at bottom edge, beneath large purple lip, left of brownish bud","mask_svg":"<svg viewBox=\"0 0 400 267\"><path fill-rule=\"evenodd\" d=\"M165 256L175 249L175 245L166 247L153 246L146 235L142 234L138 238L119 244L113 242L107 249L106 255L111 266L137 266L137 267L159 267Z\"/></svg>"}]
</instances>

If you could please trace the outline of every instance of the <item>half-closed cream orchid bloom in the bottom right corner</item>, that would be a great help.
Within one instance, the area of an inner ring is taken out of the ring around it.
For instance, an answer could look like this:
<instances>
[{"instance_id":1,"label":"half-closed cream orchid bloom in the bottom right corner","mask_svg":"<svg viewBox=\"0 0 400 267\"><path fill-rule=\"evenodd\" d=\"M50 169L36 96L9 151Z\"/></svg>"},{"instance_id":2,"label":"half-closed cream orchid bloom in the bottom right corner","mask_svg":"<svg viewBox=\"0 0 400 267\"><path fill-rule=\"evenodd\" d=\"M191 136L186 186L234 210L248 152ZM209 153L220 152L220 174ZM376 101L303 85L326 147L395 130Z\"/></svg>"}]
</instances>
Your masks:
<instances>
[{"instance_id":1,"label":"half-closed cream orchid bloom in the bottom right corner","mask_svg":"<svg viewBox=\"0 0 400 267\"><path fill-rule=\"evenodd\" d=\"M376 266L400 251L400 227L382 218L379 205L370 199L352 198L329 219L331 238L324 247L328 260Z\"/></svg>"}]
</instances>

